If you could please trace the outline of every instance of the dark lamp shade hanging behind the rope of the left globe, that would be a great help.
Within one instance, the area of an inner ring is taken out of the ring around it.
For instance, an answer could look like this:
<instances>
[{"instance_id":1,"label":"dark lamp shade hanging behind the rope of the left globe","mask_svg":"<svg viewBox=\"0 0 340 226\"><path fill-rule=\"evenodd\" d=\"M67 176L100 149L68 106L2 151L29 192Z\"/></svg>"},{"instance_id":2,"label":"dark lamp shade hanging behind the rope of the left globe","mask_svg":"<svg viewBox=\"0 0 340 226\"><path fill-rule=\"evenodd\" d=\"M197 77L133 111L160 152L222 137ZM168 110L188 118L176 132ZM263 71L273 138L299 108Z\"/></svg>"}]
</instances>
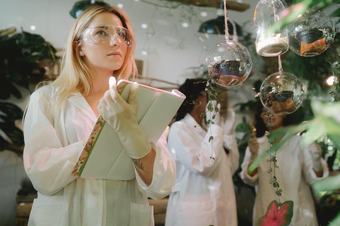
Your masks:
<instances>
[{"instance_id":1,"label":"dark lamp shade hanging behind the rope of the left globe","mask_svg":"<svg viewBox=\"0 0 340 226\"><path fill-rule=\"evenodd\" d=\"M229 34L234 34L234 27L233 24L228 20L228 30ZM236 31L238 36L242 36L242 28L240 25L235 23ZM219 34L224 35L225 34L225 23L224 23L224 16L218 16L216 19L207 20L203 22L198 29L198 32L200 33L207 33L207 34Z\"/></svg>"}]
</instances>

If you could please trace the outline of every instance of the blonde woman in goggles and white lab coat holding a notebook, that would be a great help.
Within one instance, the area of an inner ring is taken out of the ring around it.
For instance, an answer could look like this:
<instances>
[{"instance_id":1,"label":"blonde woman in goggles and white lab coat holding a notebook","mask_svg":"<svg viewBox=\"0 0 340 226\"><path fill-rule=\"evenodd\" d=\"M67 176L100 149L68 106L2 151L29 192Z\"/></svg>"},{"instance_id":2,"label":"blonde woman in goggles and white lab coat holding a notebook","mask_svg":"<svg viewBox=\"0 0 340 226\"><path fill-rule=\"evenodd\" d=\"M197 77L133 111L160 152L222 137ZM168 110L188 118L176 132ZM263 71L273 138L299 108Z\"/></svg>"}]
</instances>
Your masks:
<instances>
[{"instance_id":1,"label":"blonde woman in goggles and white lab coat holding a notebook","mask_svg":"<svg viewBox=\"0 0 340 226\"><path fill-rule=\"evenodd\" d=\"M136 87L125 102L115 82L108 86L112 76L136 76L135 46L125 12L89 7L71 28L61 75L31 95L24 118L24 166L38 198L29 225L153 225L147 198L172 192L174 161L164 135L150 143L138 126ZM99 114L133 158L135 179L71 176Z\"/></svg>"}]
</instances>

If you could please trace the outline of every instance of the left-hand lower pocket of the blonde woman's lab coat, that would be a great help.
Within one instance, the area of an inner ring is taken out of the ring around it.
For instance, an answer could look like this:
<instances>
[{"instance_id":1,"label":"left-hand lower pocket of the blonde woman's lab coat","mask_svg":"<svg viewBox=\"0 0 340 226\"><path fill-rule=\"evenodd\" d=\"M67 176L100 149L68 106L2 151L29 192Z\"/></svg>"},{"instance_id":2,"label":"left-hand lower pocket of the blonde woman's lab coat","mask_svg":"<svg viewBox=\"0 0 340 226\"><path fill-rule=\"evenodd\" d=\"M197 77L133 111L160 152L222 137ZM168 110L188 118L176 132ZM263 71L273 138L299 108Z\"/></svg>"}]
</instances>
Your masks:
<instances>
[{"instance_id":1,"label":"left-hand lower pocket of the blonde woman's lab coat","mask_svg":"<svg viewBox=\"0 0 340 226\"><path fill-rule=\"evenodd\" d=\"M63 220L64 196L38 196L34 199L28 226L57 226Z\"/></svg>"}]
</instances>

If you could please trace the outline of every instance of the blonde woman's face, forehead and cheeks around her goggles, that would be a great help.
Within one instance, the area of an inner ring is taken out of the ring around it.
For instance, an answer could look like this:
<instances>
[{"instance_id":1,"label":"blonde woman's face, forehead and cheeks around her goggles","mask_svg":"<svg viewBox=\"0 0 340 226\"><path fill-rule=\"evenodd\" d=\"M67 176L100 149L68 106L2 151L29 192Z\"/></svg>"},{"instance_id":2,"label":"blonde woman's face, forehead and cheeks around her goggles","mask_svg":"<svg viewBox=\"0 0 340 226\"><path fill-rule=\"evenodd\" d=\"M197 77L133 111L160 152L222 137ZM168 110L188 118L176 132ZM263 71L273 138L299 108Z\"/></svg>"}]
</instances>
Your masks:
<instances>
[{"instance_id":1,"label":"blonde woman's face, forehead and cheeks around her goggles","mask_svg":"<svg viewBox=\"0 0 340 226\"><path fill-rule=\"evenodd\" d=\"M100 13L95 16L88 27L96 27L101 25L115 25L123 27L121 20L112 13ZM80 46L83 53L83 59L86 65L91 68L101 70L118 70L124 62L126 50L128 47L114 38L109 43L89 43L82 42Z\"/></svg>"}]
</instances>

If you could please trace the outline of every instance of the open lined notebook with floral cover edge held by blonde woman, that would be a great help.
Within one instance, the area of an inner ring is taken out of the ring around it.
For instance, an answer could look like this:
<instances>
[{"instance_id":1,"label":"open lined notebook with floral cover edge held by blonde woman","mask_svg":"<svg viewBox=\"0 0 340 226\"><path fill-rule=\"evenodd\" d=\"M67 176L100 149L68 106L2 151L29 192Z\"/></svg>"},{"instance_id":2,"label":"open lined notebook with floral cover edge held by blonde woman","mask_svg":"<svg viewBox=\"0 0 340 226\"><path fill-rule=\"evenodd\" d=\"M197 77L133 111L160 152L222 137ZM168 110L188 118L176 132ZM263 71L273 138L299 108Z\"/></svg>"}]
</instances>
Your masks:
<instances>
[{"instance_id":1,"label":"open lined notebook with floral cover edge held by blonde woman","mask_svg":"<svg viewBox=\"0 0 340 226\"><path fill-rule=\"evenodd\" d=\"M117 89L128 100L133 82L119 80ZM183 103L185 95L138 84L137 122L146 132L148 140L156 143ZM125 153L122 143L113 128L101 116L86 142L74 166L72 175L81 178L132 180L136 174L132 159Z\"/></svg>"}]
</instances>

